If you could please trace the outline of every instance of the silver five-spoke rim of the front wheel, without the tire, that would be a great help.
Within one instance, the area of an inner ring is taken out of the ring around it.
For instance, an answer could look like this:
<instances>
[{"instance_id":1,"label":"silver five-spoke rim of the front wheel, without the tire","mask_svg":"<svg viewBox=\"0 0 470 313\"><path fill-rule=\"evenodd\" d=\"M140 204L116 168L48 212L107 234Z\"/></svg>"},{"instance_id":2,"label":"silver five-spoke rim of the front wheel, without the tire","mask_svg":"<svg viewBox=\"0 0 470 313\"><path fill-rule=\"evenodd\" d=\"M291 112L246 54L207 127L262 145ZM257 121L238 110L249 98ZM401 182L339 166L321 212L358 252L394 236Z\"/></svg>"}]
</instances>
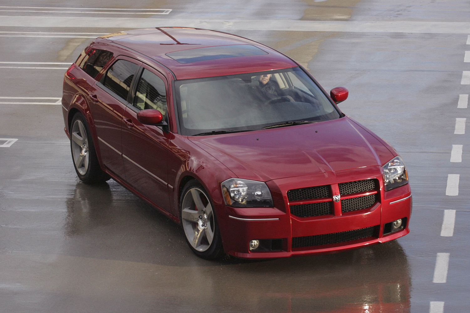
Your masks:
<instances>
[{"instance_id":1,"label":"silver five-spoke rim of the front wheel, without the tire","mask_svg":"<svg viewBox=\"0 0 470 313\"><path fill-rule=\"evenodd\" d=\"M184 195L181 206L181 223L191 246L204 252L214 239L214 214L211 202L204 191L191 188Z\"/></svg>"}]
</instances>

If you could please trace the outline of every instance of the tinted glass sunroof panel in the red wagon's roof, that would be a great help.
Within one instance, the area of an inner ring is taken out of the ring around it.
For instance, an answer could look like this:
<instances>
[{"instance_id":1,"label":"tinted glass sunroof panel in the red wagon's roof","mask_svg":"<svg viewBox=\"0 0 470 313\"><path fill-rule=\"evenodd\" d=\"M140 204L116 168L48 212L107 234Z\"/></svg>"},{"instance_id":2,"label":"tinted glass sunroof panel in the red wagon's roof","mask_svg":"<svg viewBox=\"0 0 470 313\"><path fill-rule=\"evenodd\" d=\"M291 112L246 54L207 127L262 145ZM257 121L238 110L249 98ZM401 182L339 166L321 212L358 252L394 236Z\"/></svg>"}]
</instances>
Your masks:
<instances>
[{"instance_id":1,"label":"tinted glass sunroof panel in the red wagon's roof","mask_svg":"<svg viewBox=\"0 0 470 313\"><path fill-rule=\"evenodd\" d=\"M266 51L251 45L228 45L205 48L194 48L166 53L170 58L180 63L192 63L207 60L234 58L236 56L249 56L268 54Z\"/></svg>"}]
</instances>

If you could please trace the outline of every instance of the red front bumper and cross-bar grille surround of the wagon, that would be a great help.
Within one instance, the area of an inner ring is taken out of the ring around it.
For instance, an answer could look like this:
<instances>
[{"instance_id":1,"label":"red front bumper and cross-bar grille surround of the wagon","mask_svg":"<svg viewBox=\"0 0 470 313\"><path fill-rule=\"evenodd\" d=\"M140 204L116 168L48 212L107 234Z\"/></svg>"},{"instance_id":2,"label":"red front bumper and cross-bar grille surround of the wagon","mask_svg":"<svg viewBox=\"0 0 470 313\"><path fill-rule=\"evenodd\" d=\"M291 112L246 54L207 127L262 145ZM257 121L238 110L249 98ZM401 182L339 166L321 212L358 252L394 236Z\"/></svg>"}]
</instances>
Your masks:
<instances>
[{"instance_id":1,"label":"red front bumper and cross-bar grille surround of the wagon","mask_svg":"<svg viewBox=\"0 0 470 313\"><path fill-rule=\"evenodd\" d=\"M370 180L376 182L374 191L341 195L346 199L364 195L371 197L371 193L375 193L375 202L366 208L353 207L352 211L345 212L342 206L346 202L341 200L337 203L330 201L330 214L299 217L295 215L298 213L291 212L291 206L326 201L326 198L293 201L287 191L329 185L331 194L335 194L339 193L338 183ZM228 254L246 259L322 254L384 243L409 233L412 208L410 186L406 184L385 192L379 167L283 178L267 184L273 194L274 208L217 208L218 212L223 213L218 218L224 249ZM384 235L384 225L398 219L405 222L403 229ZM265 242L274 239L276 243L282 240L282 248L276 244L275 251L250 251L249 243L253 239Z\"/></svg>"}]
</instances>

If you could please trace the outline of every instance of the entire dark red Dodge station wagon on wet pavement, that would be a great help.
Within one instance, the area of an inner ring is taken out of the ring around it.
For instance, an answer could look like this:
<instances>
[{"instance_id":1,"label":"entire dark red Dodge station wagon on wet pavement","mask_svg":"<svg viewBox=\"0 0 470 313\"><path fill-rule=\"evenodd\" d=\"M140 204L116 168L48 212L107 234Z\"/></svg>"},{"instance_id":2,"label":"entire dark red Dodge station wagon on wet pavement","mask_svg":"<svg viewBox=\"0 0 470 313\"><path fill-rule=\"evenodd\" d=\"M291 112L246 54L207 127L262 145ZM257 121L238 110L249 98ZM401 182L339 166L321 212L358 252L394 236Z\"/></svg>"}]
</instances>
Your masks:
<instances>
[{"instance_id":1,"label":"entire dark red Dodge station wagon on wet pavement","mask_svg":"<svg viewBox=\"0 0 470 313\"><path fill-rule=\"evenodd\" d=\"M65 132L84 183L111 177L213 259L280 258L409 233L403 160L298 63L219 31L95 39L67 70Z\"/></svg>"}]
</instances>

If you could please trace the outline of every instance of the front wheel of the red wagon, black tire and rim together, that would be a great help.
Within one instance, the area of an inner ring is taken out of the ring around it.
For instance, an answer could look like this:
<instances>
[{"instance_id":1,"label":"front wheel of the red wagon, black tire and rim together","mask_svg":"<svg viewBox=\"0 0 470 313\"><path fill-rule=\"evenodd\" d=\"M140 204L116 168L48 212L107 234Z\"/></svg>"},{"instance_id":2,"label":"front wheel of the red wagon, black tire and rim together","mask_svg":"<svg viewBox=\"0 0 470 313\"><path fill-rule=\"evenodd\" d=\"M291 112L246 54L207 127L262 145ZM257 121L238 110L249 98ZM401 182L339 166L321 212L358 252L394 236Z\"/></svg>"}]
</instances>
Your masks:
<instances>
[{"instance_id":1,"label":"front wheel of the red wagon, black tire and rim together","mask_svg":"<svg viewBox=\"0 0 470 313\"><path fill-rule=\"evenodd\" d=\"M219 225L211 198L196 180L189 181L180 196L181 228L191 250L207 260L224 255Z\"/></svg>"}]
</instances>

